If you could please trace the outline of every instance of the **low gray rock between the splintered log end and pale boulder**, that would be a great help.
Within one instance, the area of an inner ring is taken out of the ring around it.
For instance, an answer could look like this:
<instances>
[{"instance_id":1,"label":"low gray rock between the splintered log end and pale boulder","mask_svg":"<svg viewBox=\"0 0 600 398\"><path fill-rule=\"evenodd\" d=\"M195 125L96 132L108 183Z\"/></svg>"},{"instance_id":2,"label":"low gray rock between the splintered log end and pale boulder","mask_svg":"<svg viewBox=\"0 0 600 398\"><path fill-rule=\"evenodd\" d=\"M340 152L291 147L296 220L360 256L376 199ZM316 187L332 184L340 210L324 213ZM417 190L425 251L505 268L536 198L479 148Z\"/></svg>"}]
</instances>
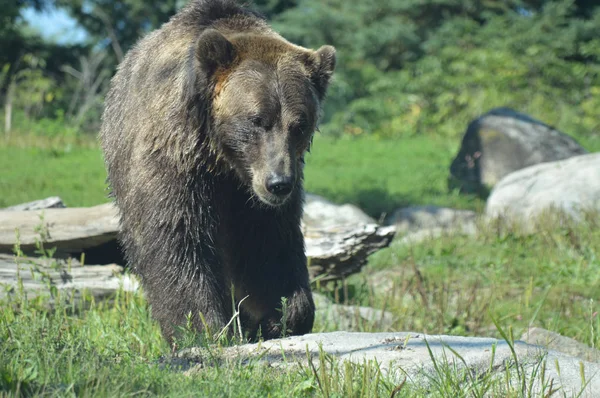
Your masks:
<instances>
[{"instance_id":1,"label":"low gray rock between the splintered log end and pale boulder","mask_svg":"<svg viewBox=\"0 0 600 398\"><path fill-rule=\"evenodd\" d=\"M471 210L457 210L438 206L411 206L398 209L386 219L386 225L395 225L398 232L416 232L435 228L472 230L477 214Z\"/></svg>"}]
</instances>

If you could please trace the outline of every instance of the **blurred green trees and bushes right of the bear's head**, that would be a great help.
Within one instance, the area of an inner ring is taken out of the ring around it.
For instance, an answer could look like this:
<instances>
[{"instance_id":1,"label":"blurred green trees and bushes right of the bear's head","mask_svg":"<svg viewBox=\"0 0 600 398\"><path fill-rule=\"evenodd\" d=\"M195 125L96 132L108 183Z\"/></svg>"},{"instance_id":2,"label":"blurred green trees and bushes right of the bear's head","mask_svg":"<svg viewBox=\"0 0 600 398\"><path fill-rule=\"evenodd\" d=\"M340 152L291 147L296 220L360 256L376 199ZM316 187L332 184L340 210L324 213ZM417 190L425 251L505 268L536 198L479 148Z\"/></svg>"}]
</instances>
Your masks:
<instances>
[{"instance_id":1,"label":"blurred green trees and bushes right of the bear's head","mask_svg":"<svg viewBox=\"0 0 600 398\"><path fill-rule=\"evenodd\" d=\"M600 130L600 9L591 6L304 0L275 26L338 49L328 133L456 136L495 106L569 133Z\"/></svg>"}]
</instances>

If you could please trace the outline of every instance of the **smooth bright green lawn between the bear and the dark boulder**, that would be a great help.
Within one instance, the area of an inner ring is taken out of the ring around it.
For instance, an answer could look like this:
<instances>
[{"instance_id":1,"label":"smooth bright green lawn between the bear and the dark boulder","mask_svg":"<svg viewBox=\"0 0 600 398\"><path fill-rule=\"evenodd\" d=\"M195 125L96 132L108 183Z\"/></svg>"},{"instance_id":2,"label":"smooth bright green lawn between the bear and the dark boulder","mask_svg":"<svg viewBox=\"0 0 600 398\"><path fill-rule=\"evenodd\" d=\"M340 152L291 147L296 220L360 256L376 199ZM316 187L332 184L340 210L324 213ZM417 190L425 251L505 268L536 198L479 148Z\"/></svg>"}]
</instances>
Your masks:
<instances>
[{"instance_id":1,"label":"smooth bright green lawn between the bear and the dark boulder","mask_svg":"<svg viewBox=\"0 0 600 398\"><path fill-rule=\"evenodd\" d=\"M353 203L374 217L408 205L481 208L474 196L448 192L450 163L459 143L416 136L317 136L306 159L306 190Z\"/></svg>"}]
</instances>

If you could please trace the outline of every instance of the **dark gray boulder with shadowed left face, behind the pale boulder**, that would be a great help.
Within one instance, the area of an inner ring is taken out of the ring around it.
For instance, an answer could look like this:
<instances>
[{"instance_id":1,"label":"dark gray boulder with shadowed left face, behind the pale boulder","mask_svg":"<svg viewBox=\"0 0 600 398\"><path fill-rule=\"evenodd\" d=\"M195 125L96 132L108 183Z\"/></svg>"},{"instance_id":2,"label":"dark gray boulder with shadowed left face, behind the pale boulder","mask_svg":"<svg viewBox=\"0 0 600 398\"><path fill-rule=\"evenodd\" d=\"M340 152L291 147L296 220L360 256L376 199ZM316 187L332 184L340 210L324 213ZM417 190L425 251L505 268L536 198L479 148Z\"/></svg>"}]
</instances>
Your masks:
<instances>
[{"instance_id":1,"label":"dark gray boulder with shadowed left face, behind the pale boulder","mask_svg":"<svg viewBox=\"0 0 600 398\"><path fill-rule=\"evenodd\" d=\"M504 176L587 153L573 138L527 115L496 108L471 122L450 166L451 182L486 192Z\"/></svg>"}]
</instances>

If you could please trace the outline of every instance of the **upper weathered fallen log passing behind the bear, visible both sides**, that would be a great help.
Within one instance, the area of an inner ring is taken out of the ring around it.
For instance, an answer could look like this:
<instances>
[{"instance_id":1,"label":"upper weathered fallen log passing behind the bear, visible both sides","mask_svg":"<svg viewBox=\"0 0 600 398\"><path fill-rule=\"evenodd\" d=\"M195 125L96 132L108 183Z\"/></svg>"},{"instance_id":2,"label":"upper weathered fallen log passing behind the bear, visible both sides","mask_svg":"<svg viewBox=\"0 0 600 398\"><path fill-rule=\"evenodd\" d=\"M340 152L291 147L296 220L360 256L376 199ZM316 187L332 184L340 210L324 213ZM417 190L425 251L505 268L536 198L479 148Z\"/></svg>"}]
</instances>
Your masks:
<instances>
[{"instance_id":1,"label":"upper weathered fallen log passing behind the bear, visible both sides","mask_svg":"<svg viewBox=\"0 0 600 398\"><path fill-rule=\"evenodd\" d=\"M87 208L0 211L0 252L12 253L19 242L25 253L40 241L59 256L86 254L94 264L124 264L117 246L119 222L110 204ZM18 231L18 239L17 239ZM304 228L311 278L330 281L360 271L367 257L390 244L395 227L358 224L327 229Z\"/></svg>"}]
</instances>

